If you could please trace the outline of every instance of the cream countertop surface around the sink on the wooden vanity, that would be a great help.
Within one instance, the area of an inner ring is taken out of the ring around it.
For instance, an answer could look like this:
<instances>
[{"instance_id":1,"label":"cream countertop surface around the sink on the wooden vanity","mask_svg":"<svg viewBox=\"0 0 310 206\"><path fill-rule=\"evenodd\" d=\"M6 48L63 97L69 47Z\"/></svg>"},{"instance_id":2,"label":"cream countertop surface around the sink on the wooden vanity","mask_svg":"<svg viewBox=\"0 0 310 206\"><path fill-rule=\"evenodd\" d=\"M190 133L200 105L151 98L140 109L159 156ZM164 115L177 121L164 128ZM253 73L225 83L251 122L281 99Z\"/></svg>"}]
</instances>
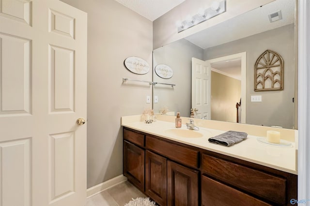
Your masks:
<instances>
[{"instance_id":1,"label":"cream countertop surface around the sink on the wooden vanity","mask_svg":"<svg viewBox=\"0 0 310 206\"><path fill-rule=\"evenodd\" d=\"M208 138L227 131L200 127L202 137L181 137L167 132L170 129L177 130L174 123L167 121L157 120L151 124L142 121L122 122L122 126L297 175L294 142L293 147L275 147L258 142L258 136L248 135L246 140L226 147L209 143ZM183 124L180 130L187 130L186 125Z\"/></svg>"}]
</instances>

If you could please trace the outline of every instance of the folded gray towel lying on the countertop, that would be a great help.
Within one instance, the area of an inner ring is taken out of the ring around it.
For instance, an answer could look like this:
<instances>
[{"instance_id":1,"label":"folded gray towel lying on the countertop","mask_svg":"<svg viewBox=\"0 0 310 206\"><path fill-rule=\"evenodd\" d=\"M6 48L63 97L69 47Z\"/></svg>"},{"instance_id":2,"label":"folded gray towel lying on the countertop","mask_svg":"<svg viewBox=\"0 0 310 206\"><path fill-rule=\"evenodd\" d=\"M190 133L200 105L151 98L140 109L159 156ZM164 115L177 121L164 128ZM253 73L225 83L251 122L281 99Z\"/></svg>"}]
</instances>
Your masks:
<instances>
[{"instance_id":1,"label":"folded gray towel lying on the countertop","mask_svg":"<svg viewBox=\"0 0 310 206\"><path fill-rule=\"evenodd\" d=\"M228 131L215 137L211 137L208 139L208 141L214 144L220 144L229 147L233 144L245 140L247 136L248 134L246 132Z\"/></svg>"}]
</instances>

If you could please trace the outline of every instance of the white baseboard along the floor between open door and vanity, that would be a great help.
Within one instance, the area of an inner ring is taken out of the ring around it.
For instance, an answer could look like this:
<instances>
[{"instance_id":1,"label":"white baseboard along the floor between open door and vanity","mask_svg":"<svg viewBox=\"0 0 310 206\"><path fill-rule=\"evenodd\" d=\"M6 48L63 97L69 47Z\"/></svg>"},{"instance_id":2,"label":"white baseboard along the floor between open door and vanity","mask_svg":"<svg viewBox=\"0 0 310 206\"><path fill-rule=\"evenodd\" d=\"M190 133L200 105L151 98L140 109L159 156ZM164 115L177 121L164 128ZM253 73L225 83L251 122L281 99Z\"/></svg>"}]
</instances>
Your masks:
<instances>
[{"instance_id":1,"label":"white baseboard along the floor between open door and vanity","mask_svg":"<svg viewBox=\"0 0 310 206\"><path fill-rule=\"evenodd\" d=\"M88 188L86 191L87 198L89 198L95 194L98 194L102 191L105 191L105 190L109 189L110 187L118 185L118 184L120 184L126 180L127 180L127 177L125 177L124 175L120 175L120 176L114 177L112 179L109 179L103 183L100 183L98 185L95 185L91 188Z\"/></svg>"}]
</instances>

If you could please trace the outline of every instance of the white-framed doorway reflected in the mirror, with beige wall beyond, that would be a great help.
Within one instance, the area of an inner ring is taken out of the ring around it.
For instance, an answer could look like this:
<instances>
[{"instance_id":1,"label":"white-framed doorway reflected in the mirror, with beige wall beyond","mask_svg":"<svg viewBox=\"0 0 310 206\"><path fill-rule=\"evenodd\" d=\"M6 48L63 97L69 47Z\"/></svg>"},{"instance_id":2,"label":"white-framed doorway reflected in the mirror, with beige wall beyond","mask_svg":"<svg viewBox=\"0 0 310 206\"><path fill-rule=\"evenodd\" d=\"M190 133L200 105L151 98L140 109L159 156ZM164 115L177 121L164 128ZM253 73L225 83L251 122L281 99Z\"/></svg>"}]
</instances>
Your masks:
<instances>
[{"instance_id":1,"label":"white-framed doorway reflected in the mirror, with beige wall beyond","mask_svg":"<svg viewBox=\"0 0 310 206\"><path fill-rule=\"evenodd\" d=\"M211 64L211 119L246 123L246 52L209 59Z\"/></svg>"}]
</instances>

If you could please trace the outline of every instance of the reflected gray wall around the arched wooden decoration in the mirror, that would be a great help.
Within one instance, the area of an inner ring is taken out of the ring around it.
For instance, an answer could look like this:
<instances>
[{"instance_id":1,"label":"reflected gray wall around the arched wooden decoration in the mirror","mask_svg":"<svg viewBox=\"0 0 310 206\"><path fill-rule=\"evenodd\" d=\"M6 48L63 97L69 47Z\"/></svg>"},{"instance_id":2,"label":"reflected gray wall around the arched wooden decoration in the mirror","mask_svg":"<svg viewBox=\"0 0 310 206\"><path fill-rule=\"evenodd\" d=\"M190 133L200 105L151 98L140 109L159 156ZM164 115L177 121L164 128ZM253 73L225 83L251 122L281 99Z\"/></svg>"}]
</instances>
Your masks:
<instances>
[{"instance_id":1,"label":"reflected gray wall around the arched wooden decoration in the mirror","mask_svg":"<svg viewBox=\"0 0 310 206\"><path fill-rule=\"evenodd\" d=\"M266 50L279 53L284 61L284 89L254 91L254 64ZM248 124L294 126L294 24L262 32L247 38L204 50L204 60L247 52L247 117ZM262 103L250 102L251 95L262 95Z\"/></svg>"}]
</instances>

